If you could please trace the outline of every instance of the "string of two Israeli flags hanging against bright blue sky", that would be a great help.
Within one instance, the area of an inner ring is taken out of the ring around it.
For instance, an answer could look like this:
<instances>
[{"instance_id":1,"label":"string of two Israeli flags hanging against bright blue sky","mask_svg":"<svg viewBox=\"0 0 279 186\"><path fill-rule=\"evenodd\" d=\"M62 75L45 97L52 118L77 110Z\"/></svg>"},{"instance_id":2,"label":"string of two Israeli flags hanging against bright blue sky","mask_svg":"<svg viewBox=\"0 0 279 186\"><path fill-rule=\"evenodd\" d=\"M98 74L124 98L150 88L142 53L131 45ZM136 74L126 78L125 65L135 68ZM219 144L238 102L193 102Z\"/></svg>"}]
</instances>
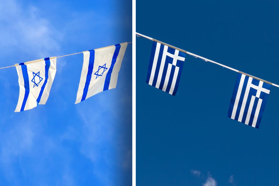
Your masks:
<instances>
[{"instance_id":1,"label":"string of two Israeli flags hanging against bright blue sky","mask_svg":"<svg viewBox=\"0 0 279 186\"><path fill-rule=\"evenodd\" d=\"M127 45L126 42L80 52L84 57L75 104L99 92L116 88L118 72ZM39 104L46 103L56 73L56 60L64 56L13 65L16 67L19 84L19 97L15 112L33 109Z\"/></svg>"}]
</instances>

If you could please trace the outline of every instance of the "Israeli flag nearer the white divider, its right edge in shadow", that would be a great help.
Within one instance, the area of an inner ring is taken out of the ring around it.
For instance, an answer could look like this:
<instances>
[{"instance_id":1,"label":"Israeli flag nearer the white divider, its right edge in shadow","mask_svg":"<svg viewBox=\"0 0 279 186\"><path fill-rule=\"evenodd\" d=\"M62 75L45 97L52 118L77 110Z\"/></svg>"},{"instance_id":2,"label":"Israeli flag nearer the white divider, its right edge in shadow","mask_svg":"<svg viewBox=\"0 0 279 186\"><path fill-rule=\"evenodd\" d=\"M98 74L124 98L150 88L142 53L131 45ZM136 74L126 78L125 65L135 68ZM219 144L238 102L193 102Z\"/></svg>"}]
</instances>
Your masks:
<instances>
[{"instance_id":1,"label":"Israeli flag nearer the white divider, its right edge in shadow","mask_svg":"<svg viewBox=\"0 0 279 186\"><path fill-rule=\"evenodd\" d=\"M128 43L83 52L83 66L75 104L116 87Z\"/></svg>"}]
</instances>

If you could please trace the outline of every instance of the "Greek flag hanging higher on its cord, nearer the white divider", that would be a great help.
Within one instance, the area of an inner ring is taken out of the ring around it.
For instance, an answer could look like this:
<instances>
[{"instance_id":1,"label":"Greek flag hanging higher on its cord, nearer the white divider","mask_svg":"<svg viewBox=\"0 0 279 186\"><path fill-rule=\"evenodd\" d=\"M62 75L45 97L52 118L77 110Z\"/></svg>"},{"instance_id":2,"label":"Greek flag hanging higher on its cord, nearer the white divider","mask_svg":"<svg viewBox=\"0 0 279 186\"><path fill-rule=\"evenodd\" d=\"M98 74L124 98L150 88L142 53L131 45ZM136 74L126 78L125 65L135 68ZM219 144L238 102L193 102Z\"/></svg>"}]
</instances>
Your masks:
<instances>
[{"instance_id":1,"label":"Greek flag hanging higher on its cord, nearer the white divider","mask_svg":"<svg viewBox=\"0 0 279 186\"><path fill-rule=\"evenodd\" d=\"M146 83L175 95L186 54L153 41Z\"/></svg>"}]
</instances>

